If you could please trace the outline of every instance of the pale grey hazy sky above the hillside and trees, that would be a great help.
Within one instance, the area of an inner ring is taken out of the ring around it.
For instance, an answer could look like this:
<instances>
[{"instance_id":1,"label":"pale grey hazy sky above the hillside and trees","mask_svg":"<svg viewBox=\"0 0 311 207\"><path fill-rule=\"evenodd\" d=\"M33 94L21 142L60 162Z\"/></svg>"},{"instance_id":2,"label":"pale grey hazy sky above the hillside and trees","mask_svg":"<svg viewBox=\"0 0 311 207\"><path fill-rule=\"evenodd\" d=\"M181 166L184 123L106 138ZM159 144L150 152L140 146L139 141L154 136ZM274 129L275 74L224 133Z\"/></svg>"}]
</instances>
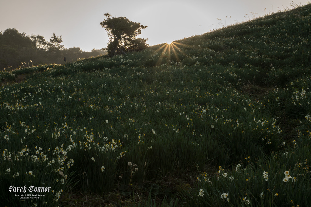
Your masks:
<instances>
[{"instance_id":1,"label":"pale grey hazy sky above the hillside and trees","mask_svg":"<svg viewBox=\"0 0 311 207\"><path fill-rule=\"evenodd\" d=\"M264 16L310 0L1 0L0 31L15 28L49 40L62 36L65 48L83 51L107 47L108 35L100 22L104 13L124 16L147 26L139 38L149 45L200 35L241 23L253 14ZM251 13L252 12L252 13ZM247 14L247 15L246 15Z\"/></svg>"}]
</instances>

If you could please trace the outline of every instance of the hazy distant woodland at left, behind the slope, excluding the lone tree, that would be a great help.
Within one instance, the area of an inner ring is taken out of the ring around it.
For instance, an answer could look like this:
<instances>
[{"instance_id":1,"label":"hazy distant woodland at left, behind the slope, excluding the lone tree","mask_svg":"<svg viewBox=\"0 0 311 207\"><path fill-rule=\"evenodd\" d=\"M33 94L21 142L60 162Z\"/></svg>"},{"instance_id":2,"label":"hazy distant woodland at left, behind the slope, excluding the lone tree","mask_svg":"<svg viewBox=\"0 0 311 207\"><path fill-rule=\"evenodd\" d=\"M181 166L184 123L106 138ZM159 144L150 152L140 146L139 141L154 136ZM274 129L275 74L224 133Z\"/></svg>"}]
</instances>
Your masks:
<instances>
[{"instance_id":1,"label":"hazy distant woodland at left, behind the slope, excluding the lone tree","mask_svg":"<svg viewBox=\"0 0 311 207\"><path fill-rule=\"evenodd\" d=\"M65 63L64 57L72 62L105 53L96 49L86 52L80 47L65 49L61 37L53 33L48 41L41 35L26 36L26 33L19 33L17 29L0 32L0 71L39 64L62 64Z\"/></svg>"}]
</instances>

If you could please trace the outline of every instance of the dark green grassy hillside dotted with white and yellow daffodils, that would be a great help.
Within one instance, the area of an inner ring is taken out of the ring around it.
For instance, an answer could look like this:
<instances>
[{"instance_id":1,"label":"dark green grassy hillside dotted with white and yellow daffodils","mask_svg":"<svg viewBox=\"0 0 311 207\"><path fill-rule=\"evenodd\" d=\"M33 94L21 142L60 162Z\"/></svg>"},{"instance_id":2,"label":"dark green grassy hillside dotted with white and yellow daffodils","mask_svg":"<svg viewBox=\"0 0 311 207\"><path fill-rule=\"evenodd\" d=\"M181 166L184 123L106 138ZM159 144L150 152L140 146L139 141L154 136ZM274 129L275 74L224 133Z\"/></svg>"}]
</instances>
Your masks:
<instances>
[{"instance_id":1,"label":"dark green grassy hillside dotted with white and yellow daffodils","mask_svg":"<svg viewBox=\"0 0 311 207\"><path fill-rule=\"evenodd\" d=\"M310 25L308 4L142 52L1 72L0 200L308 206ZM10 186L51 191L23 199Z\"/></svg>"}]
</instances>

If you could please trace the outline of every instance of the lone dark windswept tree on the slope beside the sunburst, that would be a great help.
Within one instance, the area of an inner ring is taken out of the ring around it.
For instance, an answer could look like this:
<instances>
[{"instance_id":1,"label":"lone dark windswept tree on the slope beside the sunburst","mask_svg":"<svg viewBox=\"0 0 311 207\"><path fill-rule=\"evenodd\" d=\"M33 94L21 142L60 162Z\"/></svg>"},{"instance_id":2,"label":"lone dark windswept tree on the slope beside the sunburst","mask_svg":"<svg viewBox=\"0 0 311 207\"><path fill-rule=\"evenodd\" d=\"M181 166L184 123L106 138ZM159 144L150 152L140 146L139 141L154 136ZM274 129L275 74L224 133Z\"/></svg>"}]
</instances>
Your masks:
<instances>
[{"instance_id":1,"label":"lone dark windswept tree on the slope beside the sunburst","mask_svg":"<svg viewBox=\"0 0 311 207\"><path fill-rule=\"evenodd\" d=\"M126 17L110 18L109 13L104 15L107 19L102 21L100 25L106 29L109 36L107 45L109 56L126 54L129 51L139 51L147 47L146 41L148 39L136 38L137 35L141 34L141 30L146 29L147 26L132 22Z\"/></svg>"}]
</instances>

